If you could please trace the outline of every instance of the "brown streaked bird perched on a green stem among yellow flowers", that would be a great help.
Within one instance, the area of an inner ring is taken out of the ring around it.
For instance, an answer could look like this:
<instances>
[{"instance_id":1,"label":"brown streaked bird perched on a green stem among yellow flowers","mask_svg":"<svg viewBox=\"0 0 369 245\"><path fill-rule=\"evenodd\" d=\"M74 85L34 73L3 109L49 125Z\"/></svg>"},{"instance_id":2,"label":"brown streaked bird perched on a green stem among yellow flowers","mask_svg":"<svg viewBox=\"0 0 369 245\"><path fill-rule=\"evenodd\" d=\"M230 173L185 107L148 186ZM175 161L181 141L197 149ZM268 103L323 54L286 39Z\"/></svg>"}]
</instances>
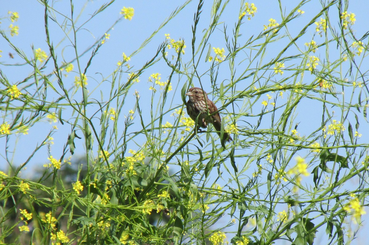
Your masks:
<instances>
[{"instance_id":1,"label":"brown streaked bird perched on a green stem among yellow flowers","mask_svg":"<svg viewBox=\"0 0 369 245\"><path fill-rule=\"evenodd\" d=\"M214 125L215 130L217 130L218 135L220 136L220 129L221 129L221 119L219 112L215 113L214 115L208 116L211 113L218 111L217 106L207 97L207 93L203 91L201 88L190 88L187 93L189 96L189 100L187 101L187 113L196 122L197 120L197 128L207 127L207 123L211 123ZM207 108L206 108L207 105ZM207 113L207 109L209 113ZM199 116L197 118L197 116ZM231 136L224 132L223 134L223 141L232 141ZM222 142L223 145L224 142Z\"/></svg>"}]
</instances>

